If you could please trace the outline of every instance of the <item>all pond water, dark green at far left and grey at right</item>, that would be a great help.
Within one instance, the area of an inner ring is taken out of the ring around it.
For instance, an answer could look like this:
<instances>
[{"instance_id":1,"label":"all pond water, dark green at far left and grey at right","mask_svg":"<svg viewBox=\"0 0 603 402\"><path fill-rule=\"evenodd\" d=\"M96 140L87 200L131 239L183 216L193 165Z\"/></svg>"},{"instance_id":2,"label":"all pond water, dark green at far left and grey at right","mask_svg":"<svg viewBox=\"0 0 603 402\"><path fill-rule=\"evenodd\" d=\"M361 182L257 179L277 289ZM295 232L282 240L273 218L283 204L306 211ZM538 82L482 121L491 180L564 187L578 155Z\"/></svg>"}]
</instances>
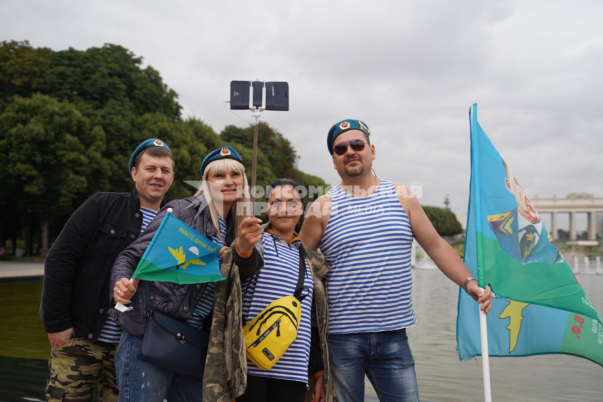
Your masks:
<instances>
[{"instance_id":1,"label":"all pond water, dark green at far left and grey at right","mask_svg":"<svg viewBox=\"0 0 603 402\"><path fill-rule=\"evenodd\" d=\"M458 287L438 269L413 269L418 323L408 329L421 401L483 401L481 358L456 354ZM599 313L603 275L576 275ZM0 401L44 400L48 338L38 314L41 280L0 282ZM494 401L603 400L603 368L574 356L493 357ZM366 380L367 401L376 401Z\"/></svg>"}]
</instances>

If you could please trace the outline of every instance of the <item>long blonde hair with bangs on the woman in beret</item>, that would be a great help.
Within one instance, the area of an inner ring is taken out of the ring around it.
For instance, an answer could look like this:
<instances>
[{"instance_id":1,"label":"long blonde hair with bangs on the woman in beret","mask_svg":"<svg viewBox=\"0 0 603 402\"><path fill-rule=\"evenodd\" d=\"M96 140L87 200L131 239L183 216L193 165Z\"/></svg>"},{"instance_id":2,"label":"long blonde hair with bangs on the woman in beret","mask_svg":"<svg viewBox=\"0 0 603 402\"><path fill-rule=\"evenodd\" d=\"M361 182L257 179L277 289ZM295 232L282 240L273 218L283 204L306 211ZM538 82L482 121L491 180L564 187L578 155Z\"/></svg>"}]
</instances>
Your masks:
<instances>
[{"instance_id":1,"label":"long blonde hair with bangs on the woman in beret","mask_svg":"<svg viewBox=\"0 0 603 402\"><path fill-rule=\"evenodd\" d=\"M241 191L239 198L232 204L230 207L230 212L233 214L233 218L235 218L233 222L233 226L235 229L235 237L239 235L239 225L243 219L247 218L247 216L251 216L251 197L249 195L249 183L247 181L247 176L245 176L245 167L241 162L238 162L234 159L218 159L213 162L207 164L205 171L203 172L203 177L201 177L201 186L195 193L195 196L200 196L203 194L207 200L207 207L209 208L209 214L212 218L213 226L218 229L218 236L221 237L219 228L219 220L218 220L218 209L216 208L216 204L212 199L212 195L209 191L209 187L207 187L207 178L216 174L226 174L227 172L238 172L243 177L243 188L236 189L237 193ZM226 219L226 216L224 216ZM223 239L224 240L224 239Z\"/></svg>"}]
</instances>

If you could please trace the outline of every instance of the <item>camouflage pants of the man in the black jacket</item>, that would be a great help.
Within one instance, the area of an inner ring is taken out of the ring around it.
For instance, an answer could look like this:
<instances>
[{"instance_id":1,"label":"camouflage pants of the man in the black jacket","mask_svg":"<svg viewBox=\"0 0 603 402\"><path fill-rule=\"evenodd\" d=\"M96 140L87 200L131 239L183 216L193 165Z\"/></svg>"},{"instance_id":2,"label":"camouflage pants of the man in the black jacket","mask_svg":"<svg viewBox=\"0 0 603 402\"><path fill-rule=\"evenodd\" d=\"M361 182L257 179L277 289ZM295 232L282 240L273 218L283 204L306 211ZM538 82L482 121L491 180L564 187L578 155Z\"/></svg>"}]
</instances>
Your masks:
<instances>
[{"instance_id":1,"label":"camouflage pants of the man in the black jacket","mask_svg":"<svg viewBox=\"0 0 603 402\"><path fill-rule=\"evenodd\" d=\"M117 345L72 338L62 347L52 349L46 401L92 401L98 383L99 401L116 402L118 387L113 359Z\"/></svg>"}]
</instances>

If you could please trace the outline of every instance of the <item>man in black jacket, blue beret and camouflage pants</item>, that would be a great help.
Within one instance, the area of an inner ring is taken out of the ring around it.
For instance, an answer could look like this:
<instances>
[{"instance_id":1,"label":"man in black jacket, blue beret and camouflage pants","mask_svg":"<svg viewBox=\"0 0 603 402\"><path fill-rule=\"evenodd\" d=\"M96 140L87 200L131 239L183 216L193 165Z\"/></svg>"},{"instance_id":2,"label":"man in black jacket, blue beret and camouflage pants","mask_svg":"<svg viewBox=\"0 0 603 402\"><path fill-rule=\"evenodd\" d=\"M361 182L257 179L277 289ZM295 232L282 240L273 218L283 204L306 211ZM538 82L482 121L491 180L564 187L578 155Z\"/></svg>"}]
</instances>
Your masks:
<instances>
[{"instance_id":1,"label":"man in black jacket, blue beret and camouflage pants","mask_svg":"<svg viewBox=\"0 0 603 402\"><path fill-rule=\"evenodd\" d=\"M52 353L46 400L117 401L113 358L121 328L107 316L115 258L144 231L174 180L161 140L141 143L130 159L130 193L94 193L58 235L44 263L40 316Z\"/></svg>"}]
</instances>

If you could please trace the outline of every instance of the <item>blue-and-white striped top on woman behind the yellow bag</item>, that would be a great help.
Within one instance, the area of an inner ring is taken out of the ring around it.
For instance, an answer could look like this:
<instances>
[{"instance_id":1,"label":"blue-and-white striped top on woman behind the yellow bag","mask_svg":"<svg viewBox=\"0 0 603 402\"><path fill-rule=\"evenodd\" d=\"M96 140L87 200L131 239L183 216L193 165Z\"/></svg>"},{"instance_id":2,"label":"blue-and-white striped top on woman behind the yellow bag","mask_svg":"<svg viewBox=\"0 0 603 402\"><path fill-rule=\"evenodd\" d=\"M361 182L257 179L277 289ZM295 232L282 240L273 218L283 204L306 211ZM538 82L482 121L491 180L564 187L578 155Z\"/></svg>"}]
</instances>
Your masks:
<instances>
[{"instance_id":1,"label":"blue-and-white striped top on woman behind the yellow bag","mask_svg":"<svg viewBox=\"0 0 603 402\"><path fill-rule=\"evenodd\" d=\"M299 275L299 249L297 244L286 243L280 237L275 241L268 231L262 233L264 266L256 274L241 283L243 297L243 325L255 318L268 304L295 292ZM247 359L247 373L258 377L281 378L308 384L310 356L310 317L314 281L306 263L304 285L311 289L301 302L300 327L297 338L283 356L268 370L263 370ZM304 292L305 294L305 292Z\"/></svg>"}]
</instances>

